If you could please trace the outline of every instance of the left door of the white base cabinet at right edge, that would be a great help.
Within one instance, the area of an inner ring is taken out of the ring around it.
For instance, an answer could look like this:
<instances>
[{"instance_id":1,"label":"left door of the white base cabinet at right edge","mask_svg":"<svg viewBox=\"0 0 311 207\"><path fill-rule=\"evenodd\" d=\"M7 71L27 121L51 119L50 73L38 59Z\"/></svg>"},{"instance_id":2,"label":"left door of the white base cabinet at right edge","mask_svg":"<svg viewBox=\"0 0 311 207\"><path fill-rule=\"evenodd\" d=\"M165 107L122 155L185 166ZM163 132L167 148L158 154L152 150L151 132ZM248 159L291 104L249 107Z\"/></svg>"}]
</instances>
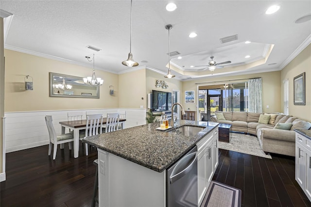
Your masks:
<instances>
[{"instance_id":1,"label":"left door of the white base cabinet at right edge","mask_svg":"<svg viewBox=\"0 0 311 207\"><path fill-rule=\"evenodd\" d=\"M296 181L302 189L305 189L306 184L306 153L302 145L296 142L295 151L295 165L296 165Z\"/></svg>"}]
</instances>

